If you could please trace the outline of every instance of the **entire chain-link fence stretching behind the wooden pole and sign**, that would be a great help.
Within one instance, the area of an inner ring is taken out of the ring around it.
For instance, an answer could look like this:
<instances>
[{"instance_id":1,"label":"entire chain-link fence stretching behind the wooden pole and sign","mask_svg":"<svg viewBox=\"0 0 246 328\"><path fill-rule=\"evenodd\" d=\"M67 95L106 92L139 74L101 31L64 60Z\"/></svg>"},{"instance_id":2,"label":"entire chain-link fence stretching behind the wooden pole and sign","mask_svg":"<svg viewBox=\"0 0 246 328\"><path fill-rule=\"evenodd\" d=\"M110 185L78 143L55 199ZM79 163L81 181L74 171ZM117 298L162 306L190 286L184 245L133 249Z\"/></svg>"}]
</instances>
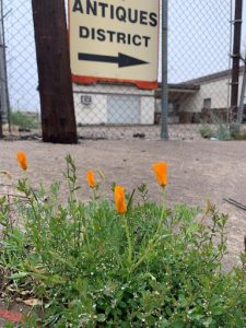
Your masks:
<instances>
[{"instance_id":1,"label":"entire chain-link fence stretching behind the wooden pole and sign","mask_svg":"<svg viewBox=\"0 0 246 328\"><path fill-rule=\"evenodd\" d=\"M232 0L168 1L171 140L226 133L233 7ZM32 1L3 0L3 19L12 131L21 126L21 133L25 128L40 133ZM160 139L161 87L99 83L74 84L73 90L80 138Z\"/></svg>"}]
</instances>

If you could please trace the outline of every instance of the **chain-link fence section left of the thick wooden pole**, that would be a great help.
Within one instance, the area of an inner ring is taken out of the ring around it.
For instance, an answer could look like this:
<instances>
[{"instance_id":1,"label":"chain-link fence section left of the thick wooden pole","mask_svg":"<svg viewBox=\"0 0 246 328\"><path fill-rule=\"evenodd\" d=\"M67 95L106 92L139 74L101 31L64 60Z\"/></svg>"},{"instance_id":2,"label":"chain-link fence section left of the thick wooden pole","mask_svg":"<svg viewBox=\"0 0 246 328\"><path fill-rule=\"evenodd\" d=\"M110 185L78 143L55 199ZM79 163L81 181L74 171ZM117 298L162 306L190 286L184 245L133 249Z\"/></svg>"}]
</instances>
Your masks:
<instances>
[{"instance_id":1,"label":"chain-link fence section left of the thick wooden pole","mask_svg":"<svg viewBox=\"0 0 246 328\"><path fill-rule=\"evenodd\" d=\"M12 133L40 130L32 1L2 3Z\"/></svg>"}]
</instances>

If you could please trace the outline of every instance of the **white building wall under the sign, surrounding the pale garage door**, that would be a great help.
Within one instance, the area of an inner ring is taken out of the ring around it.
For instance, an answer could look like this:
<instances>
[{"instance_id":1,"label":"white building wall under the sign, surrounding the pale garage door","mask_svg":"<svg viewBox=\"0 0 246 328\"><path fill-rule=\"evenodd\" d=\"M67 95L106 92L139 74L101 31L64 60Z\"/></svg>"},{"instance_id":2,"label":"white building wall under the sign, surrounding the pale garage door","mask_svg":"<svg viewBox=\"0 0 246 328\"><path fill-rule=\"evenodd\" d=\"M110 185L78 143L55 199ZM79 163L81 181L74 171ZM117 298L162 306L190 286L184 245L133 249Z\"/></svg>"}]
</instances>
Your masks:
<instances>
[{"instance_id":1,"label":"white building wall under the sign, surrounding the pale garage door","mask_svg":"<svg viewBox=\"0 0 246 328\"><path fill-rule=\"evenodd\" d=\"M117 84L73 84L73 97L77 124L101 125L107 124L108 102L107 95L136 95L140 97L140 124L154 124L155 98L154 91L140 90L131 85ZM91 96L92 103L83 105L81 96Z\"/></svg>"}]
</instances>

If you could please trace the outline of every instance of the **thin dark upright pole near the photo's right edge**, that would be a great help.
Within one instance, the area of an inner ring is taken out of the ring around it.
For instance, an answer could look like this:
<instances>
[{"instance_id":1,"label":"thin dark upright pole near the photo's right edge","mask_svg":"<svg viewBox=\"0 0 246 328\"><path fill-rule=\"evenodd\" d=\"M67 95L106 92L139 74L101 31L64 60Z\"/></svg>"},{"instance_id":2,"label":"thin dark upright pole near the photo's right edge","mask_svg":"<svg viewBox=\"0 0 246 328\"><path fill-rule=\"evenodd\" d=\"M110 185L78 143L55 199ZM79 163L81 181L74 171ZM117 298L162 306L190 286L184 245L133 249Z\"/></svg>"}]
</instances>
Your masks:
<instances>
[{"instance_id":1,"label":"thin dark upright pole near the photo's right edge","mask_svg":"<svg viewBox=\"0 0 246 328\"><path fill-rule=\"evenodd\" d=\"M237 108L238 104L238 80L241 65L241 35L242 35L242 12L243 0L236 0L234 19L234 44L233 44L233 67L232 67L232 95L231 107Z\"/></svg>"}]
</instances>

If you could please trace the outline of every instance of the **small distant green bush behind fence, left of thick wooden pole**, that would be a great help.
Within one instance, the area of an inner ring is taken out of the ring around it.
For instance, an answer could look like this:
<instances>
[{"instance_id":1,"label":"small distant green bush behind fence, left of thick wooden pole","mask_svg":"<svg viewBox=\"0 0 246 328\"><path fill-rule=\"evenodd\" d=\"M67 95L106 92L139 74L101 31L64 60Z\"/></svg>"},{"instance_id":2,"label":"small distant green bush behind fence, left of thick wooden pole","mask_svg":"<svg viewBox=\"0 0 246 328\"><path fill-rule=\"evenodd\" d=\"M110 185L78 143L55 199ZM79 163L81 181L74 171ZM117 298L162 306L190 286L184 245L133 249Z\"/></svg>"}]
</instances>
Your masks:
<instances>
[{"instance_id":1,"label":"small distant green bush behind fence, left of thick wooden pole","mask_svg":"<svg viewBox=\"0 0 246 328\"><path fill-rule=\"evenodd\" d=\"M37 129L39 127L37 117L20 110L11 112L10 121L11 125L17 126L21 129Z\"/></svg>"}]
</instances>

